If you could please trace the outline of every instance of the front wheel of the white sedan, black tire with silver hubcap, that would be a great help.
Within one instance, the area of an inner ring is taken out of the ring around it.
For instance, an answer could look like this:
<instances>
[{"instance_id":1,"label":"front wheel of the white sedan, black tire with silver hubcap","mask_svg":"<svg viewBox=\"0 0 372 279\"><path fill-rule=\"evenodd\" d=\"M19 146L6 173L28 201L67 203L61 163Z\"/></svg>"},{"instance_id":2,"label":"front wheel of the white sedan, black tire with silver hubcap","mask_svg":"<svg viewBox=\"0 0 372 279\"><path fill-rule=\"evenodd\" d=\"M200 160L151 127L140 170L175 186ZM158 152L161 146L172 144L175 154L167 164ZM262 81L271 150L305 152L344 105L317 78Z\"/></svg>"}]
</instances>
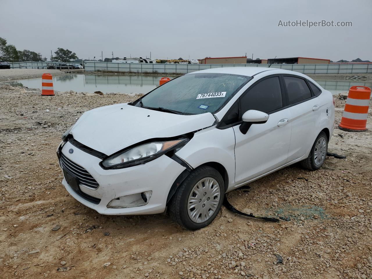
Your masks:
<instances>
[{"instance_id":1,"label":"front wheel of the white sedan, black tire with silver hubcap","mask_svg":"<svg viewBox=\"0 0 372 279\"><path fill-rule=\"evenodd\" d=\"M211 183L212 186L209 187L208 183ZM194 188L197 185L202 190L201 192L195 192L198 190ZM206 194L207 192L208 194ZM217 196L218 198L216 198ZM174 193L169 207L170 217L174 222L188 230L204 228L217 216L224 196L225 185L221 174L209 166L198 167L183 180L176 193ZM195 202L193 209L189 209L189 199ZM199 212L204 213L202 217L202 213ZM209 216L206 214L209 214ZM193 215L194 219L190 215Z\"/></svg>"}]
</instances>

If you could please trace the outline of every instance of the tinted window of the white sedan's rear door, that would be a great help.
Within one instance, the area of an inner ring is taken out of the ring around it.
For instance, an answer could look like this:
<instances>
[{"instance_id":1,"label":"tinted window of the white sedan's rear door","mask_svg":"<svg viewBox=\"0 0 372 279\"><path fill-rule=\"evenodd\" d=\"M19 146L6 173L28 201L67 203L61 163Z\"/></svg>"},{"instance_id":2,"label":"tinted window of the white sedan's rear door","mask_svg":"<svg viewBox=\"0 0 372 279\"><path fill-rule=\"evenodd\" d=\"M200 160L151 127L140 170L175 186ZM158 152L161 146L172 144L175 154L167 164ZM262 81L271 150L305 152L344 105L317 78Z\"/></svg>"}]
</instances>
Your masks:
<instances>
[{"instance_id":1,"label":"tinted window of the white sedan's rear door","mask_svg":"<svg viewBox=\"0 0 372 279\"><path fill-rule=\"evenodd\" d=\"M283 78L287 89L288 105L311 98L311 91L305 80L289 76L284 76Z\"/></svg>"}]
</instances>

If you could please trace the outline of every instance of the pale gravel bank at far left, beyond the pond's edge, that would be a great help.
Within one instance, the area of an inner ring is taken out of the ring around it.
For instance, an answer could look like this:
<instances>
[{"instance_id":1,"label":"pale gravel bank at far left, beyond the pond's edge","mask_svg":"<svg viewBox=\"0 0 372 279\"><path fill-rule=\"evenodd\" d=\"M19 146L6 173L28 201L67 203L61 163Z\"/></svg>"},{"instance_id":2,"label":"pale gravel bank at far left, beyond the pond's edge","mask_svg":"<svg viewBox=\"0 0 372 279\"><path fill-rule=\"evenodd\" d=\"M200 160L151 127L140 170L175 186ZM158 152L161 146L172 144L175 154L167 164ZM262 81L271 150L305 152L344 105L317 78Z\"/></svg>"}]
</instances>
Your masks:
<instances>
[{"instance_id":1,"label":"pale gravel bank at far left, beyond the pond's edge","mask_svg":"<svg viewBox=\"0 0 372 279\"><path fill-rule=\"evenodd\" d=\"M71 71L71 70L65 70ZM36 78L41 77L42 74L49 73L52 76L63 76L66 73L60 70L53 69L1 69L0 70L0 81L17 80L23 78Z\"/></svg>"}]
</instances>

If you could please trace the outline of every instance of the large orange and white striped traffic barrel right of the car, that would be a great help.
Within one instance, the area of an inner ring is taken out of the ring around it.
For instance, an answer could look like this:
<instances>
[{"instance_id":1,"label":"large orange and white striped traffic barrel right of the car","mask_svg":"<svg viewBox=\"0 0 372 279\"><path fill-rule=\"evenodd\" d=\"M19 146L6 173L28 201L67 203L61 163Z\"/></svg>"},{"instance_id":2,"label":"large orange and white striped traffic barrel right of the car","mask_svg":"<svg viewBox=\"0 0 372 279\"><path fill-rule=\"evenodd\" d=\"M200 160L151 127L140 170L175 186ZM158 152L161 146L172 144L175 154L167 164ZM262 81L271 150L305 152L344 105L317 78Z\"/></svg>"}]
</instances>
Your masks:
<instances>
[{"instance_id":1,"label":"large orange and white striped traffic barrel right of the car","mask_svg":"<svg viewBox=\"0 0 372 279\"><path fill-rule=\"evenodd\" d=\"M366 86L350 87L339 129L348 132L366 131L370 98L371 88Z\"/></svg>"}]
</instances>

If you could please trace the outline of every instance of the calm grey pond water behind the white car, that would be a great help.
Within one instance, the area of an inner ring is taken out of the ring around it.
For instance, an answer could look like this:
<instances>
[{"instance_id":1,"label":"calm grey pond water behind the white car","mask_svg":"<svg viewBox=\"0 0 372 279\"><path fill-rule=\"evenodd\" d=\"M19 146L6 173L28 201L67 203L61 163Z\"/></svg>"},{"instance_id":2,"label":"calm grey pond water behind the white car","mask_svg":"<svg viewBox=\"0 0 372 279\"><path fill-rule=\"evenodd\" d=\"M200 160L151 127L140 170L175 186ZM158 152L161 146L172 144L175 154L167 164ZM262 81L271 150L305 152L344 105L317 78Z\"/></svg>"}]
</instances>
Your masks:
<instances>
[{"instance_id":1,"label":"calm grey pond water behind the white car","mask_svg":"<svg viewBox=\"0 0 372 279\"><path fill-rule=\"evenodd\" d=\"M67 76L53 77L54 90L76 91L76 92L94 92L103 93L138 93L145 94L159 85L159 80L163 76L153 75L84 75L70 74ZM174 77L169 77L174 78ZM337 95L349 91L351 86L372 87L372 82L361 80L315 80L324 89ZM11 81L11 84L27 86L29 88L41 89L41 78L30 78Z\"/></svg>"}]
</instances>

